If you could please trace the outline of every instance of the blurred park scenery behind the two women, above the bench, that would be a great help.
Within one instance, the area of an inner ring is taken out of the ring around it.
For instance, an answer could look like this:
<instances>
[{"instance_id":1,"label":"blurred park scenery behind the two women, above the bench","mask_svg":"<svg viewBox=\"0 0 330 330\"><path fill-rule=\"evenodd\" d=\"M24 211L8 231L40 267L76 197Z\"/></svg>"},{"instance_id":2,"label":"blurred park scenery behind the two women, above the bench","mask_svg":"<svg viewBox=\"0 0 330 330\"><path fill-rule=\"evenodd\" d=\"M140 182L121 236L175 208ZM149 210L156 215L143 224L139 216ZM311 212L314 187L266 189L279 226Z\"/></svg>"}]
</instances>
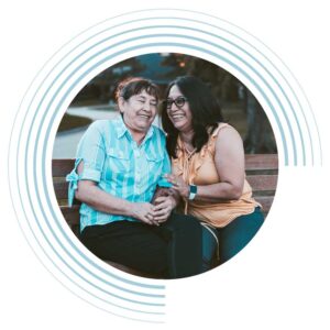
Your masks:
<instances>
[{"instance_id":1,"label":"blurred park scenery behind the two women, above the bench","mask_svg":"<svg viewBox=\"0 0 330 330\"><path fill-rule=\"evenodd\" d=\"M92 121L118 116L114 90L123 78L140 76L152 79L163 94L169 81L183 75L199 77L210 86L222 105L226 121L240 132L246 154L277 153L264 110L240 80L199 57L157 53L120 62L100 73L79 91L58 127L53 158L74 158L77 144ZM158 118L155 124L161 124Z\"/></svg>"}]
</instances>

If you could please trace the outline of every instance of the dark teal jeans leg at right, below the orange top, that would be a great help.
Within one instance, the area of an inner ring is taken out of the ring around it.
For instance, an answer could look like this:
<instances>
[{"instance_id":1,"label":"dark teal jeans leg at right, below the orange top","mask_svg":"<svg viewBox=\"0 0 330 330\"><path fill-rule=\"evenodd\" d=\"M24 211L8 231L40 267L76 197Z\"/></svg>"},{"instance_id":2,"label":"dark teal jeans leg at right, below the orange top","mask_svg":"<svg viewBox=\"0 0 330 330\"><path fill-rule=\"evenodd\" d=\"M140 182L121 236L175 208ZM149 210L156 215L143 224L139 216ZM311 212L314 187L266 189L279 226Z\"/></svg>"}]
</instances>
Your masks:
<instances>
[{"instance_id":1,"label":"dark teal jeans leg at right, below the orange top","mask_svg":"<svg viewBox=\"0 0 330 330\"><path fill-rule=\"evenodd\" d=\"M217 228L220 264L238 254L256 234L264 222L260 207L254 212L238 217L223 228Z\"/></svg>"}]
</instances>

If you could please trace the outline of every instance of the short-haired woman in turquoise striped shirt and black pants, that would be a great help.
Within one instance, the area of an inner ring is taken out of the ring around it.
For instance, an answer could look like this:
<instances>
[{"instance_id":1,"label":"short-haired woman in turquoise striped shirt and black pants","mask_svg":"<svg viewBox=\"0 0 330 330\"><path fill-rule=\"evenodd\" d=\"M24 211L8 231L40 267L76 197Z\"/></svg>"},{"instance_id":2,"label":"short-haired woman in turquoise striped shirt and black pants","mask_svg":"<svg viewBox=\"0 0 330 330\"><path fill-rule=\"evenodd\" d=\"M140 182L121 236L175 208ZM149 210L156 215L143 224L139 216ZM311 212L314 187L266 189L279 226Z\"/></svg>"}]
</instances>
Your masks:
<instances>
[{"instance_id":1,"label":"short-haired woman in turquoise striped shirt and black pants","mask_svg":"<svg viewBox=\"0 0 330 330\"><path fill-rule=\"evenodd\" d=\"M100 258L155 277L199 274L200 223L173 215L176 199L156 194L170 173L165 134L152 125L157 87L129 78L118 87L117 103L117 119L88 128L67 176L69 204L81 201L80 240Z\"/></svg>"}]
</instances>

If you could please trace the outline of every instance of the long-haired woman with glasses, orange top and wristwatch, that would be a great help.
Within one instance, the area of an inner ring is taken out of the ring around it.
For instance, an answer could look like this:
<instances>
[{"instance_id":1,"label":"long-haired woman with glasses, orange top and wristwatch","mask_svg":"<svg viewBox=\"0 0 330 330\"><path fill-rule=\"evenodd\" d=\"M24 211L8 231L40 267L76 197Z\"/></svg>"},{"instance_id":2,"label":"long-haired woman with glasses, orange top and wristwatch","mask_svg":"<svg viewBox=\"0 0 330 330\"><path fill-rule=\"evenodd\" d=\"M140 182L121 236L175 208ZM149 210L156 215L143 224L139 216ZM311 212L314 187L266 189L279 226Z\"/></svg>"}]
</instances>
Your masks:
<instances>
[{"instance_id":1,"label":"long-haired woman with glasses, orange top and wristwatch","mask_svg":"<svg viewBox=\"0 0 330 330\"><path fill-rule=\"evenodd\" d=\"M240 134L223 122L206 84L184 76L169 84L162 109L173 174L167 176L185 215L211 228L220 263L241 251L264 218L245 179Z\"/></svg>"}]
</instances>

